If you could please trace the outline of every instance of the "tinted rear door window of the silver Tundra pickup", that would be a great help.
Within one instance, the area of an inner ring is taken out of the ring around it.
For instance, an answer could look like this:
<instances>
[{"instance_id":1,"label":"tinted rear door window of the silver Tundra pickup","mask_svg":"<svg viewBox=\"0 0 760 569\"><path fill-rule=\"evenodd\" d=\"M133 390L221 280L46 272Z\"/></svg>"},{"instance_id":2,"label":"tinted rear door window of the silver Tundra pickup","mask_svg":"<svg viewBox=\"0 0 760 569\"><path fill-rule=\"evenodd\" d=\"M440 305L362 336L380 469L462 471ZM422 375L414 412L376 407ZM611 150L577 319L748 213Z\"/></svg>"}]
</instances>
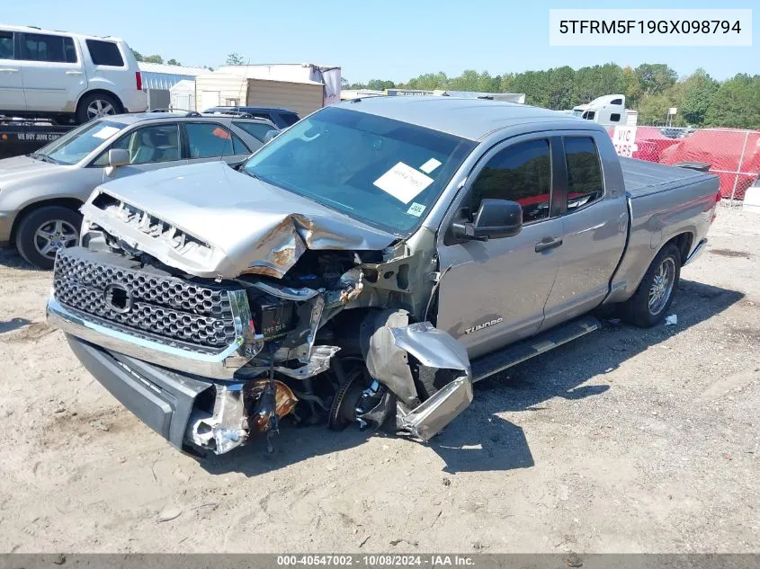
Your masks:
<instances>
[{"instance_id":1,"label":"tinted rear door window of the silver Tundra pickup","mask_svg":"<svg viewBox=\"0 0 760 569\"><path fill-rule=\"evenodd\" d=\"M568 163L568 213L604 195L602 167L592 138L565 138Z\"/></svg>"}]
</instances>

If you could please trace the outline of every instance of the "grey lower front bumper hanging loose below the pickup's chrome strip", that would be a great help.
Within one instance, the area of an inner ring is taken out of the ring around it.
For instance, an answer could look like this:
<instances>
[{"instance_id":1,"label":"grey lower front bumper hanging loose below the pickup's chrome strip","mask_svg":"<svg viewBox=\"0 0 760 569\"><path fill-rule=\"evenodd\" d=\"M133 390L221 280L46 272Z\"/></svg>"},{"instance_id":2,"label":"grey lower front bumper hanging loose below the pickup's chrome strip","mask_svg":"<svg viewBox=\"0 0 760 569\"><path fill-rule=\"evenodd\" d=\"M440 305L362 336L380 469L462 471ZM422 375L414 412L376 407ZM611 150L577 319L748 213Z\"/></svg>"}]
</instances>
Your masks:
<instances>
[{"instance_id":1,"label":"grey lower front bumper hanging loose below the pickup's chrome strip","mask_svg":"<svg viewBox=\"0 0 760 569\"><path fill-rule=\"evenodd\" d=\"M213 401L214 382L111 353L70 334L67 340L85 369L122 405L177 449L186 447L191 415L203 399Z\"/></svg>"}]
</instances>

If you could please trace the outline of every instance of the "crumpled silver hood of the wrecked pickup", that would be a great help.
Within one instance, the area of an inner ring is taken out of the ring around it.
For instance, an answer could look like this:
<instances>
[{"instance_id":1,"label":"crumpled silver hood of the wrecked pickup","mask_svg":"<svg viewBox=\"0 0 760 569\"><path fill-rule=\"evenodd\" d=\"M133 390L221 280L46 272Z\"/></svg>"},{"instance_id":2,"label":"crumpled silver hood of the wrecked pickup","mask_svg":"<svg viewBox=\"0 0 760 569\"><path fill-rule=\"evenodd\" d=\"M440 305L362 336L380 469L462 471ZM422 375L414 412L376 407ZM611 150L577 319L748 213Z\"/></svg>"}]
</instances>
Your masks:
<instances>
[{"instance_id":1,"label":"crumpled silver hood of the wrecked pickup","mask_svg":"<svg viewBox=\"0 0 760 569\"><path fill-rule=\"evenodd\" d=\"M82 211L161 262L211 278L281 278L307 248L380 250L397 238L223 162L107 182Z\"/></svg>"}]
</instances>

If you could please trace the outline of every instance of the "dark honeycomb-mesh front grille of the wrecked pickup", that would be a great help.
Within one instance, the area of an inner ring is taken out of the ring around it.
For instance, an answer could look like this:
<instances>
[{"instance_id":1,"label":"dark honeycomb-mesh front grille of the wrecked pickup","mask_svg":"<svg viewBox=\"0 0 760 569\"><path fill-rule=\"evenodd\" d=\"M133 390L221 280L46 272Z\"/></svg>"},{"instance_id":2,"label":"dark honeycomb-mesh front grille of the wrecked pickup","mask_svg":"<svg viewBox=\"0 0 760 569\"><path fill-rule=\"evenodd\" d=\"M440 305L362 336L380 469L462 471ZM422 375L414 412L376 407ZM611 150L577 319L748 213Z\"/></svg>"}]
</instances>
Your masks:
<instances>
[{"instance_id":1,"label":"dark honeycomb-mesh front grille of the wrecked pickup","mask_svg":"<svg viewBox=\"0 0 760 569\"><path fill-rule=\"evenodd\" d=\"M236 339L228 289L141 269L110 253L61 250L53 294L66 307L158 342L213 349Z\"/></svg>"}]
</instances>

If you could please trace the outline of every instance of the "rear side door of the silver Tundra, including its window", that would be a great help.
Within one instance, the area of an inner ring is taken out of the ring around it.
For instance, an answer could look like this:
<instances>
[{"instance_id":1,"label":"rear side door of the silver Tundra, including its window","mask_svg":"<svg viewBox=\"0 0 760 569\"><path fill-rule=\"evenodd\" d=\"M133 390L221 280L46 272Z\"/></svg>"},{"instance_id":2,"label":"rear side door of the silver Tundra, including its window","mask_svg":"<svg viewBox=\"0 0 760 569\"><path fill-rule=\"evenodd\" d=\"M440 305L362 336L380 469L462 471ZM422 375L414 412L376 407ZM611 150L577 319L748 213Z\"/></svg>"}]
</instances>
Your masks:
<instances>
[{"instance_id":1,"label":"rear side door of the silver Tundra, including its window","mask_svg":"<svg viewBox=\"0 0 760 569\"><path fill-rule=\"evenodd\" d=\"M562 184L562 247L559 271L544 310L543 328L586 313L607 295L612 272L628 235L622 187L607 187L597 144L604 133L571 132L562 137L567 184ZM609 147L609 141L604 148ZM617 160L610 154L606 158Z\"/></svg>"}]
</instances>

